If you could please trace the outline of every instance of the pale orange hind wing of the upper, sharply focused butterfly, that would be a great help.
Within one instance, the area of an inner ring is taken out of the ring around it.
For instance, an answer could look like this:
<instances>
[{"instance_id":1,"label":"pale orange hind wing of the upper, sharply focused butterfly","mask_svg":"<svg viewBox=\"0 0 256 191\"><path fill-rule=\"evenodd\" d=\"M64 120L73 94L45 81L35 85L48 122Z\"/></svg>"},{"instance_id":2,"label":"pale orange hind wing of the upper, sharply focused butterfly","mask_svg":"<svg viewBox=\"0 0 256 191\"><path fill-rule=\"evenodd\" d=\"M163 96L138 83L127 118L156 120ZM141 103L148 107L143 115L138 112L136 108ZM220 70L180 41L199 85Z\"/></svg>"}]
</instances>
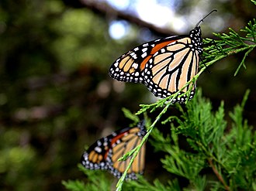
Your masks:
<instances>
[{"instance_id":1,"label":"pale orange hind wing of the upper, sharply focused butterfly","mask_svg":"<svg viewBox=\"0 0 256 191\"><path fill-rule=\"evenodd\" d=\"M198 72L199 53L192 49L192 39L183 37L170 41L167 46L158 49L148 60L144 78L147 88L157 97L168 97L181 90ZM186 92L190 86L182 90ZM195 85L192 87L193 96ZM178 97L178 102L186 97Z\"/></svg>"}]
</instances>

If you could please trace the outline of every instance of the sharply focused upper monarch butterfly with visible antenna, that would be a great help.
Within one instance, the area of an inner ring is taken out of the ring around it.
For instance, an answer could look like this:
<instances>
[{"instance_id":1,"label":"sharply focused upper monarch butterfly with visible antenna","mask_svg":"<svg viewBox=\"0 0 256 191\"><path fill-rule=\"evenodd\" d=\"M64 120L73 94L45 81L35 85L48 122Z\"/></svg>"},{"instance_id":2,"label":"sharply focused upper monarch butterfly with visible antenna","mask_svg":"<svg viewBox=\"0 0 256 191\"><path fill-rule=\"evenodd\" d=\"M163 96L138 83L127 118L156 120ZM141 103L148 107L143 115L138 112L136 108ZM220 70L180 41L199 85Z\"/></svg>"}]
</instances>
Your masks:
<instances>
[{"instance_id":1,"label":"sharply focused upper monarch butterfly with visible antenna","mask_svg":"<svg viewBox=\"0 0 256 191\"><path fill-rule=\"evenodd\" d=\"M144 84L156 97L165 98L175 94L198 73L199 56L202 54L202 33L199 24L203 19L195 25L189 35L156 39L124 53L112 63L109 69L110 77L119 81ZM189 96L189 99L192 99L195 84L191 86L185 87L179 94L192 88ZM172 103L183 103L186 98L178 97Z\"/></svg>"}]
</instances>

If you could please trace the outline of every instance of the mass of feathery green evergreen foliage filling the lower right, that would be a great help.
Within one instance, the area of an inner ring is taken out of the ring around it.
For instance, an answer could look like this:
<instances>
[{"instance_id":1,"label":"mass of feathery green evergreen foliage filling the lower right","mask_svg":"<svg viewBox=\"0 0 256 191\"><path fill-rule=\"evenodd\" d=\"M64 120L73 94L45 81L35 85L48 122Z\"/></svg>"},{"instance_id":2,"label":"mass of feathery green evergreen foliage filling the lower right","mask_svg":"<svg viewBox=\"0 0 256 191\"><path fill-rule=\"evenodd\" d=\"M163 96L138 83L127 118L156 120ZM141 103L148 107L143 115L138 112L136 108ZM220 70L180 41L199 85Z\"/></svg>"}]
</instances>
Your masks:
<instances>
[{"instance_id":1,"label":"mass of feathery green evergreen foliage filling the lower right","mask_svg":"<svg viewBox=\"0 0 256 191\"><path fill-rule=\"evenodd\" d=\"M248 94L249 90L242 104L230 112L231 127L225 119L223 102L217 111L213 111L211 103L202 97L199 90L185 110L178 108L182 112L179 118L169 118L171 135L164 136L157 128L151 132L151 145L156 151L167 153L161 159L164 169L189 180L188 186L179 189L205 190L208 187L213 190L254 190L256 135L243 119ZM185 138L186 148L180 148L180 137ZM206 169L211 169L216 178L207 177L204 173ZM141 179L144 178L140 177L136 183L128 182L128 185L144 188L140 185L144 182ZM149 190L161 189L154 187Z\"/></svg>"}]
</instances>

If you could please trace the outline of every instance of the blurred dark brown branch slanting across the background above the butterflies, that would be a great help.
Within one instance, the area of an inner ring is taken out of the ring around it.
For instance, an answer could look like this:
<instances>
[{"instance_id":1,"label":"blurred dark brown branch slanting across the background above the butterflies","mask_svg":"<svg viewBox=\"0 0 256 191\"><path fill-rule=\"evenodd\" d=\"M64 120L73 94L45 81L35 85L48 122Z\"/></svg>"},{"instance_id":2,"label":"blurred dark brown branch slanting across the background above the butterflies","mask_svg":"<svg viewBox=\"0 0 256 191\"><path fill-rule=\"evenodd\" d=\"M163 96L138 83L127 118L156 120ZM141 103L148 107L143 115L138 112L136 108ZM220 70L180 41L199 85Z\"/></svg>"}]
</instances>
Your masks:
<instances>
[{"instance_id":1,"label":"blurred dark brown branch slanting across the background above the butterflies","mask_svg":"<svg viewBox=\"0 0 256 191\"><path fill-rule=\"evenodd\" d=\"M177 33L171 31L170 29L163 29L157 26L154 26L148 22L137 18L136 16L126 14L125 12L120 12L116 9L113 9L110 5L102 2L97 2L95 0L81 0L81 4L85 5L88 9L91 9L93 12L101 15L107 15L117 19L124 19L131 23L136 24L140 27L146 27L150 31L154 32L157 36L171 36L176 35Z\"/></svg>"}]
</instances>

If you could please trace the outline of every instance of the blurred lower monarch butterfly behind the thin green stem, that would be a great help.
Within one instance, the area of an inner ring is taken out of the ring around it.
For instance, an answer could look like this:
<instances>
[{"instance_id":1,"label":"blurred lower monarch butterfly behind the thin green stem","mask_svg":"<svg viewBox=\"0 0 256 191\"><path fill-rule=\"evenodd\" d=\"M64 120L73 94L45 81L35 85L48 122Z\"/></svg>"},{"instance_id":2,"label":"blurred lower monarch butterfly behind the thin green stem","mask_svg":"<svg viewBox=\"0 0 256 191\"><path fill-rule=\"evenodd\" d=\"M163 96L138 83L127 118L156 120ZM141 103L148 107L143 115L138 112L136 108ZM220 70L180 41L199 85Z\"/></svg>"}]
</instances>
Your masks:
<instances>
[{"instance_id":1,"label":"blurred lower monarch butterfly behind the thin green stem","mask_svg":"<svg viewBox=\"0 0 256 191\"><path fill-rule=\"evenodd\" d=\"M117 161L127 152L140 144L147 130L144 127L144 121L141 121L133 128L123 128L112 132L104 138L100 138L92 144L81 156L81 164L86 169L105 169L109 170L114 176L120 178L130 163L130 157L126 161ZM136 156L126 179L137 179L136 174L144 172L145 165L145 145Z\"/></svg>"}]
</instances>

